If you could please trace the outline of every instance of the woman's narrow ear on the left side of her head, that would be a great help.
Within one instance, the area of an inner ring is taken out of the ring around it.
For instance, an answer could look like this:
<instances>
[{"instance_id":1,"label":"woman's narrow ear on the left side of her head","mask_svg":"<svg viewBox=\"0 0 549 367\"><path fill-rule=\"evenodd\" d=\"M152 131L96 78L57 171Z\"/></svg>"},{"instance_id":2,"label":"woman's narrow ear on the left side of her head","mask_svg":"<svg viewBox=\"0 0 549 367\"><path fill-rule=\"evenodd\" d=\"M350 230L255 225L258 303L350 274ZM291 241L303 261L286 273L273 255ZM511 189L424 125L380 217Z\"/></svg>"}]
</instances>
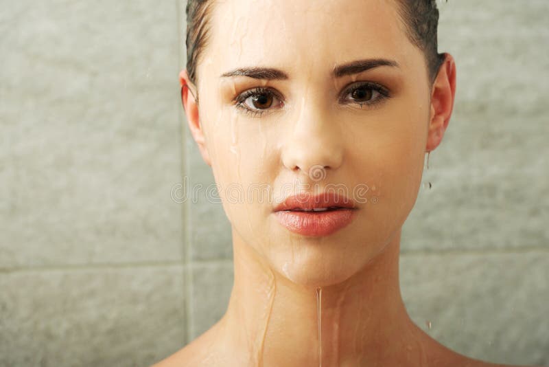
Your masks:
<instances>
[{"instance_id":1,"label":"woman's narrow ear on the left side of her head","mask_svg":"<svg viewBox=\"0 0 549 367\"><path fill-rule=\"evenodd\" d=\"M187 115L187 124L189 124L191 135L193 135L194 141L198 144L202 159L204 159L204 162L206 162L208 166L211 166L204 130L202 129L200 116L198 115L196 88L189 80L189 74L187 74L186 69L183 69L179 73L179 84L181 85L181 101L183 102L185 115Z\"/></svg>"}]
</instances>

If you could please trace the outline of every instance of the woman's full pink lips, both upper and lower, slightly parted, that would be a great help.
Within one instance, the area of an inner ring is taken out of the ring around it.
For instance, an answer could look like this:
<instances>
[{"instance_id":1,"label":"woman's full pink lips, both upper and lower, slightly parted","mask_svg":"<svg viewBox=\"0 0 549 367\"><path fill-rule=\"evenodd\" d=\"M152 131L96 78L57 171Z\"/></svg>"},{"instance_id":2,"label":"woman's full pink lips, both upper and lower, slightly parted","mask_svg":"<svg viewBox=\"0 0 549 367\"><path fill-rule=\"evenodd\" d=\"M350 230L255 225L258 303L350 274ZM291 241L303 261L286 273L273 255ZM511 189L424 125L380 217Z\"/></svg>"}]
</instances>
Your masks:
<instances>
[{"instance_id":1,"label":"woman's full pink lips, both upper and lower, slightly parted","mask_svg":"<svg viewBox=\"0 0 549 367\"><path fill-rule=\"evenodd\" d=\"M351 199L336 192L302 193L277 205L274 215L290 232L303 236L329 236L349 225L357 209Z\"/></svg>"}]
</instances>

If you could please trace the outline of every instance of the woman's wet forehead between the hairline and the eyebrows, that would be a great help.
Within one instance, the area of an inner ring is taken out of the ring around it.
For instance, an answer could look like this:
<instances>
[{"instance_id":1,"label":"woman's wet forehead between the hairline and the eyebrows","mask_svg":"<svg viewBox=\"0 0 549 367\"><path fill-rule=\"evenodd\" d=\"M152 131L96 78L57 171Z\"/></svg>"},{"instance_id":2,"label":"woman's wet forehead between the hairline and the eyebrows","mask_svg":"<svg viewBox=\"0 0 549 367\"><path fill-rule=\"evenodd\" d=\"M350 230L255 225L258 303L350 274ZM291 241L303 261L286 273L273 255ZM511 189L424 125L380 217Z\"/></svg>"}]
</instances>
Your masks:
<instances>
[{"instance_id":1,"label":"woman's wet forehead between the hairline and the eyebrows","mask_svg":"<svg viewBox=\"0 0 549 367\"><path fill-rule=\"evenodd\" d=\"M395 0L225 0L210 16L203 64L215 76L255 65L329 72L362 58L399 61L412 47Z\"/></svg>"}]
</instances>

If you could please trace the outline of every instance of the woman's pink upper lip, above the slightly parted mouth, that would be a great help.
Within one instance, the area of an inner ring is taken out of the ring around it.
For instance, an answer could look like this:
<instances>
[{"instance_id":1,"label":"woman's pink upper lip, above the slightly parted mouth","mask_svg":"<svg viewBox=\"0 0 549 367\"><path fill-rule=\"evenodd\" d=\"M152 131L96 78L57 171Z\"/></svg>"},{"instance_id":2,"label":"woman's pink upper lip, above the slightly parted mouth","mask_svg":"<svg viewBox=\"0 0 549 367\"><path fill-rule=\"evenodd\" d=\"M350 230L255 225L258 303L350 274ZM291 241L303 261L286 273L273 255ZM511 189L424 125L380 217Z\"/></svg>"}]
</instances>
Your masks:
<instances>
[{"instance_id":1,"label":"woman's pink upper lip, above the slightly parted mouth","mask_svg":"<svg viewBox=\"0 0 549 367\"><path fill-rule=\"evenodd\" d=\"M337 192L321 192L311 194L308 192L299 193L287 197L283 202L274 208L275 212L282 210L313 210L314 208L350 208L355 209L355 202L345 195Z\"/></svg>"}]
</instances>

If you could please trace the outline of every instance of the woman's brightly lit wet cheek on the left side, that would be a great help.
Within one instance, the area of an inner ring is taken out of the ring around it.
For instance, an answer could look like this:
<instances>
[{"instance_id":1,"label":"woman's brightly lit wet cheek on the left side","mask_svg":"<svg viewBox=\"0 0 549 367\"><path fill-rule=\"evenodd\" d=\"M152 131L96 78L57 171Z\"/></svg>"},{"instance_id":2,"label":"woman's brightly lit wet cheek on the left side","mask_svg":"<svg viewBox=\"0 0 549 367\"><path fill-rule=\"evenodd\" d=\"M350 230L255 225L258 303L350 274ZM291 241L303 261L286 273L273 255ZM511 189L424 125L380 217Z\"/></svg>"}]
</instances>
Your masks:
<instances>
[{"instance_id":1,"label":"woman's brightly lit wet cheek on the left side","mask_svg":"<svg viewBox=\"0 0 549 367\"><path fill-rule=\"evenodd\" d=\"M230 111L219 116L217 122L207 121L205 128L223 208L235 227L255 223L272 200L272 180L278 172L275 139L264 121Z\"/></svg>"}]
</instances>

